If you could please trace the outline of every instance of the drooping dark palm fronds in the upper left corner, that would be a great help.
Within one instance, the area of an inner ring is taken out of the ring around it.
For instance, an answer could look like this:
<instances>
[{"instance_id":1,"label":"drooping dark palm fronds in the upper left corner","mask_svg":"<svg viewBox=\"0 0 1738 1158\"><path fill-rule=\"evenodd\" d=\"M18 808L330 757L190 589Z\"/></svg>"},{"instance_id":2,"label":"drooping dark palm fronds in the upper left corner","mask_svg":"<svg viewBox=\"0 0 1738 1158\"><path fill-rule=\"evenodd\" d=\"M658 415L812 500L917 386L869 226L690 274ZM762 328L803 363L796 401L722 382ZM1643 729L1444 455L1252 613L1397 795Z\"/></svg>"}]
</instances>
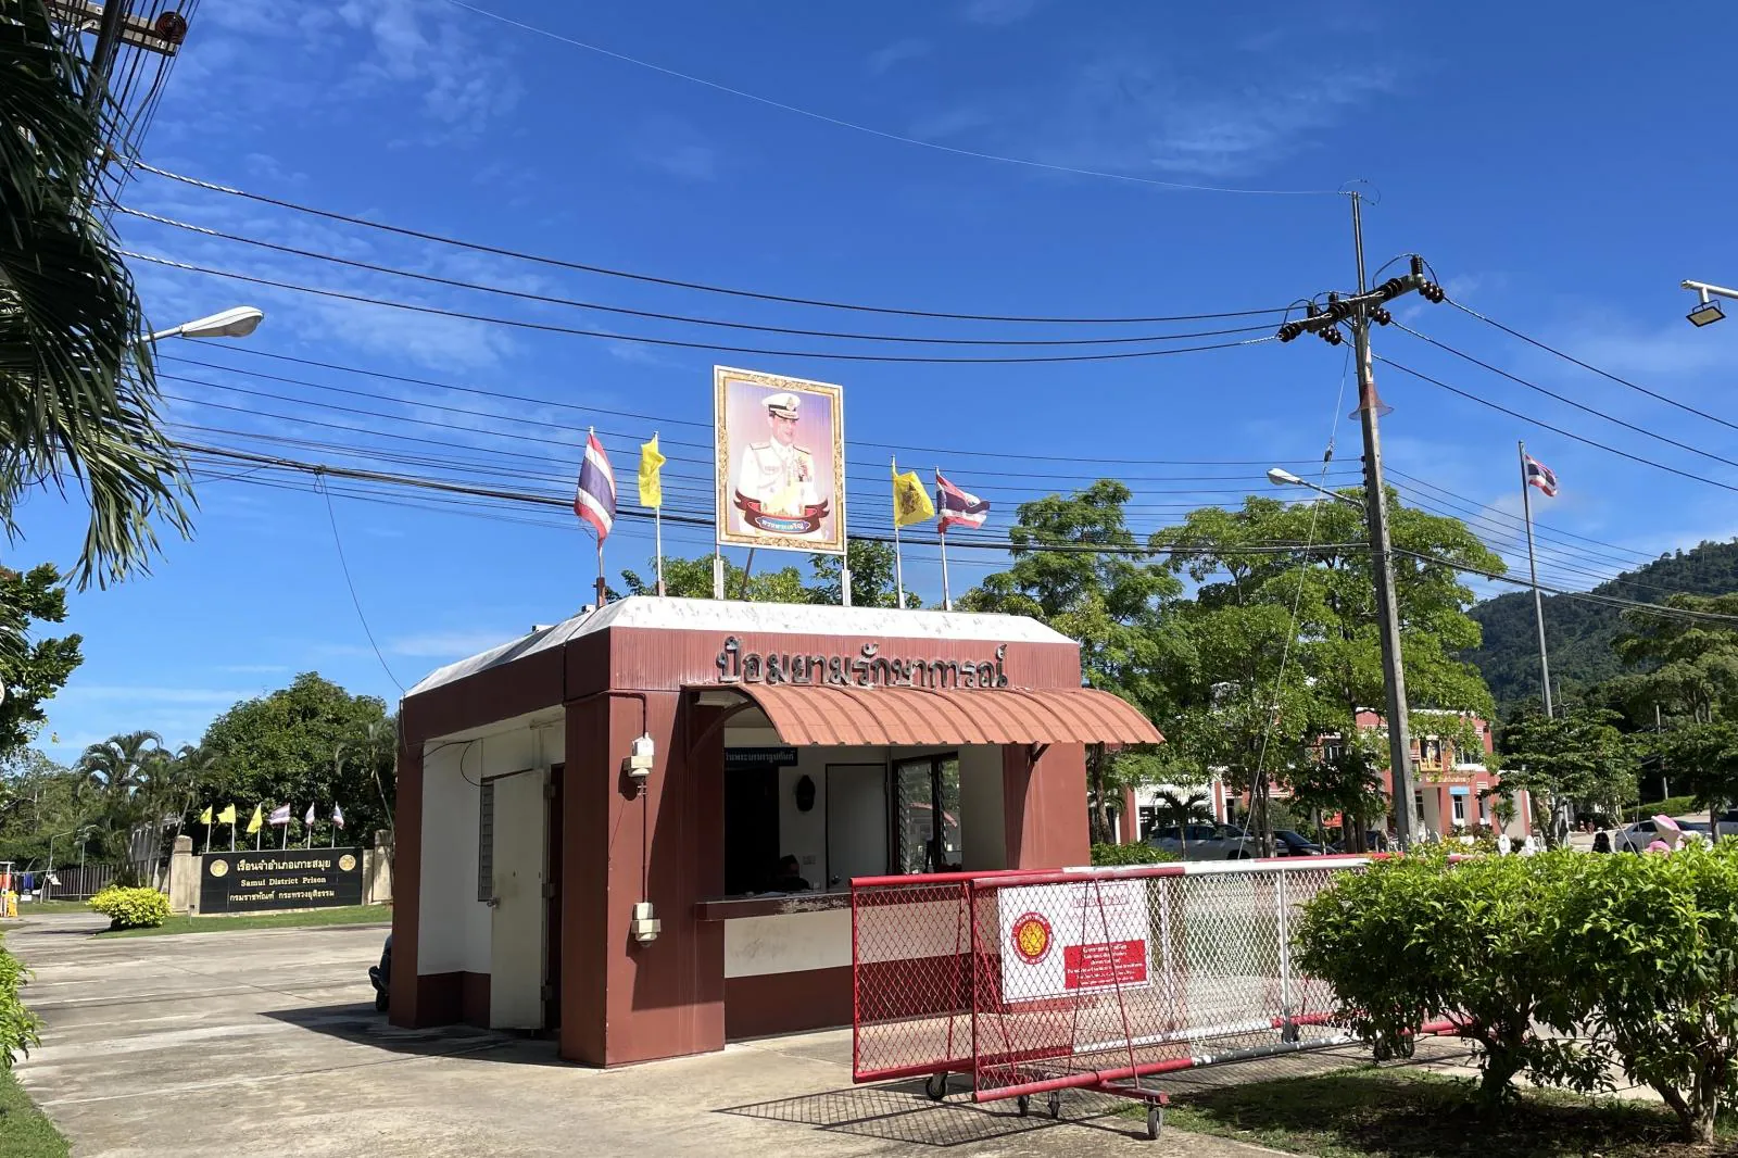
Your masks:
<instances>
[{"instance_id":1,"label":"drooping dark palm fronds in the upper left corner","mask_svg":"<svg viewBox=\"0 0 1738 1158\"><path fill-rule=\"evenodd\" d=\"M146 569L155 522L186 536L186 464L158 426L139 296L94 212L108 103L43 0L0 0L0 527L24 490L83 492L73 574L85 588Z\"/></svg>"}]
</instances>

